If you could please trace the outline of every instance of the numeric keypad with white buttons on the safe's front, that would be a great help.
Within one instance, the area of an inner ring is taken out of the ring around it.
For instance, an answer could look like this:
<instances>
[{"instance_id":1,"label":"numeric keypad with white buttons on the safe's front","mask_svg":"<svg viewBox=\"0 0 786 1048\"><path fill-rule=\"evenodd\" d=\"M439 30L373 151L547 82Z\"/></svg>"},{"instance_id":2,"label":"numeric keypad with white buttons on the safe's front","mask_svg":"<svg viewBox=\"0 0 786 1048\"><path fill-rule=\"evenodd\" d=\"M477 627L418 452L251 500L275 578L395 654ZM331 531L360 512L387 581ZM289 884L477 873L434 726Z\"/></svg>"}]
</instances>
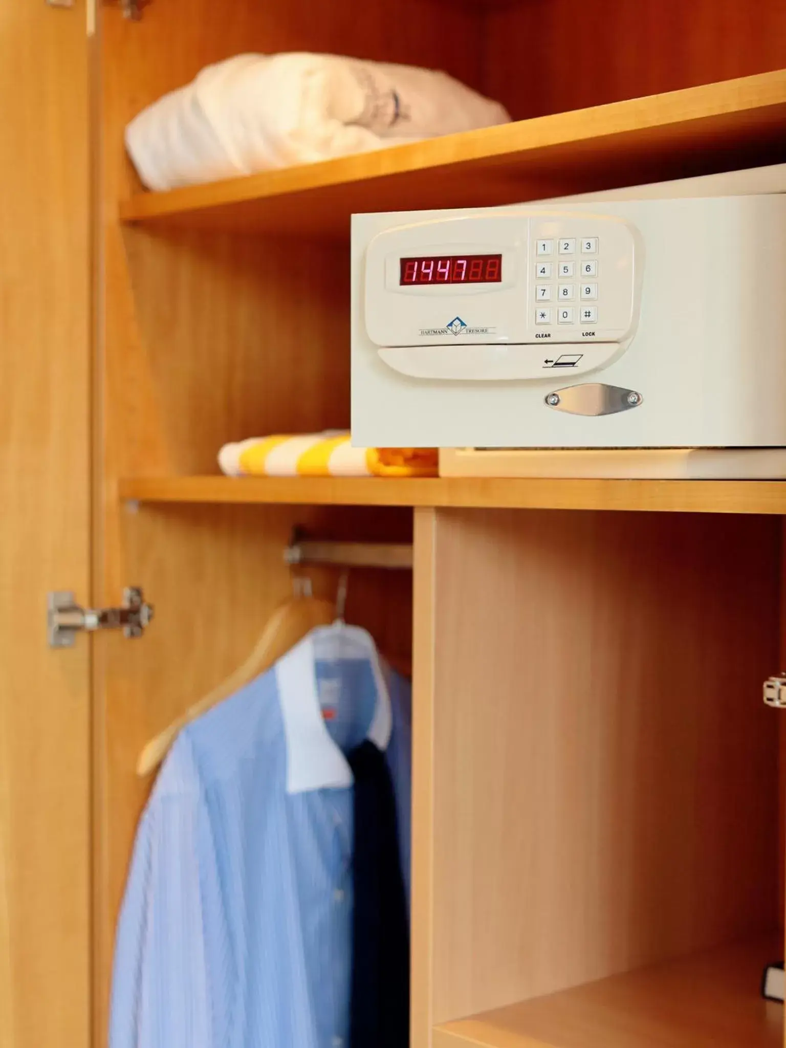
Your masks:
<instances>
[{"instance_id":1,"label":"numeric keypad with white buttons on the safe's front","mask_svg":"<svg viewBox=\"0 0 786 1048\"><path fill-rule=\"evenodd\" d=\"M564 237L537 240L536 313L537 325L597 324L597 237ZM576 259L575 256L578 256ZM551 261L555 258L556 261ZM573 283L578 276L581 283ZM556 280L554 280L556 278ZM578 305L574 305L577 301ZM556 302L556 309L551 303ZM541 305L544 303L544 305ZM592 303L592 305L589 305Z\"/></svg>"}]
</instances>

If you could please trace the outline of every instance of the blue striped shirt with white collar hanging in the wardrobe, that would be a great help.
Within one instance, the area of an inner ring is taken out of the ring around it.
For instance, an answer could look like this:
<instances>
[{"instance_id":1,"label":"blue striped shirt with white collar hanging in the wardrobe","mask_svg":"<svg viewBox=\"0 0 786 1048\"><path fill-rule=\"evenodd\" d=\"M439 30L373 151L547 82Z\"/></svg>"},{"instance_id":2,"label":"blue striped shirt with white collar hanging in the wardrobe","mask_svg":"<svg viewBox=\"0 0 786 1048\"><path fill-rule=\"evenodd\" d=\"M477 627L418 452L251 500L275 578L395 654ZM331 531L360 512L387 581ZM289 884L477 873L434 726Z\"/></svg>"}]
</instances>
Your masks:
<instances>
[{"instance_id":1,"label":"blue striped shirt with white collar hanging in the wardrobe","mask_svg":"<svg viewBox=\"0 0 786 1048\"><path fill-rule=\"evenodd\" d=\"M189 725L141 817L110 1048L341 1048L349 1030L352 773L386 750L409 885L410 694L353 627L312 631Z\"/></svg>"}]
</instances>

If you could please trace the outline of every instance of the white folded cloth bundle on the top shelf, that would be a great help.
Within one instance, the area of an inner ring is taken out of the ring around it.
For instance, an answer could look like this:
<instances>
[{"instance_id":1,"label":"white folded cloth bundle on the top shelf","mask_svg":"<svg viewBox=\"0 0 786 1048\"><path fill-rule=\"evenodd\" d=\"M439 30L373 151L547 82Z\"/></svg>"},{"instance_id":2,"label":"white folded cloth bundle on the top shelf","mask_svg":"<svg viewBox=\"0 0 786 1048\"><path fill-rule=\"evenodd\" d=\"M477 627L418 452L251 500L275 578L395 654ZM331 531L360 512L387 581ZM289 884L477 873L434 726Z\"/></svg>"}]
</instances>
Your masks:
<instances>
[{"instance_id":1,"label":"white folded cloth bundle on the top shelf","mask_svg":"<svg viewBox=\"0 0 786 1048\"><path fill-rule=\"evenodd\" d=\"M504 124L446 73L335 54L239 54L208 66L126 128L153 190L326 160Z\"/></svg>"}]
</instances>

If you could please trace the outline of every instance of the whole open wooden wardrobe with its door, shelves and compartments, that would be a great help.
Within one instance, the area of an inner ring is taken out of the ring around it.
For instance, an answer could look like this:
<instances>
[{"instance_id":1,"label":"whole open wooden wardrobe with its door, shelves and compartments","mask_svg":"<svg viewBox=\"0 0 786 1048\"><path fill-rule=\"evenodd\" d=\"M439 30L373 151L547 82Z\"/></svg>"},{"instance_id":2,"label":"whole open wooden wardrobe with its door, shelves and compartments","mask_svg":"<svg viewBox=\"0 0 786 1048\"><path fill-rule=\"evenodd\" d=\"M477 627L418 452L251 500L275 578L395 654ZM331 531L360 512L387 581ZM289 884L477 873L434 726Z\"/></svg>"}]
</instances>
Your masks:
<instances>
[{"instance_id":1,"label":"whole open wooden wardrobe with its door, shelves and compartments","mask_svg":"<svg viewBox=\"0 0 786 1048\"><path fill-rule=\"evenodd\" d=\"M413 1048L780 1048L786 483L235 481L216 453L349 424L352 212L786 160L786 5L86 2L0 0L0 1045L105 1044L138 752L290 593L298 525L414 541L348 604L413 657ZM144 193L126 123L279 50L443 68L517 123ZM141 638L47 647L48 592L129 585Z\"/></svg>"}]
</instances>

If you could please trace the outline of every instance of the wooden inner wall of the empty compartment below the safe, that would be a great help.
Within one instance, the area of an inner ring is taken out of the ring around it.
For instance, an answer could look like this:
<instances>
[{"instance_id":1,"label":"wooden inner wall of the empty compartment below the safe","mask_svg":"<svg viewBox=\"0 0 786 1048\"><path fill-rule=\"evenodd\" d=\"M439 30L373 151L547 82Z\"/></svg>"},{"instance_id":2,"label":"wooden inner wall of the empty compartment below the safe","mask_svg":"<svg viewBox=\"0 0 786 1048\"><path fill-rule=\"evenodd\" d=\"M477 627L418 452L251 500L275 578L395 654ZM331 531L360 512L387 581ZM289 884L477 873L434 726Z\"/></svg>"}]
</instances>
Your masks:
<instances>
[{"instance_id":1,"label":"wooden inner wall of the empty compartment below the safe","mask_svg":"<svg viewBox=\"0 0 786 1048\"><path fill-rule=\"evenodd\" d=\"M434 1022L774 927L778 521L437 521Z\"/></svg>"}]
</instances>

